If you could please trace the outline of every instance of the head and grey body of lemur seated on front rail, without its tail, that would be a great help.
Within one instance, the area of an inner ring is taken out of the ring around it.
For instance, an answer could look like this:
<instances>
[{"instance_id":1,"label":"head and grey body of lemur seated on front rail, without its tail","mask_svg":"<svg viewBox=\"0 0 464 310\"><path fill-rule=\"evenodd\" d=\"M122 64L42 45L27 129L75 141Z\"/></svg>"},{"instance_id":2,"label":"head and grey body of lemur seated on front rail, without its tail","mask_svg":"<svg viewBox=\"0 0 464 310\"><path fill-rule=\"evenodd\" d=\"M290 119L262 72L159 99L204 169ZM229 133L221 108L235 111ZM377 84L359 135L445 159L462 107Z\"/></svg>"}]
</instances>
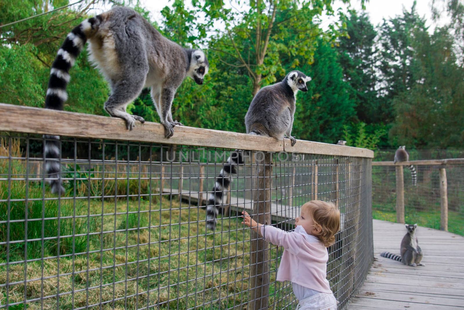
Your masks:
<instances>
[{"instance_id":1,"label":"head and grey body of lemur seated on front rail, without its tail","mask_svg":"<svg viewBox=\"0 0 464 310\"><path fill-rule=\"evenodd\" d=\"M308 91L307 77L301 71L291 71L276 84L263 87L250 103L245 115L246 133L258 136L270 136L282 140L290 138L292 146L295 137L291 136L295 114L296 92Z\"/></svg>"}]
</instances>

